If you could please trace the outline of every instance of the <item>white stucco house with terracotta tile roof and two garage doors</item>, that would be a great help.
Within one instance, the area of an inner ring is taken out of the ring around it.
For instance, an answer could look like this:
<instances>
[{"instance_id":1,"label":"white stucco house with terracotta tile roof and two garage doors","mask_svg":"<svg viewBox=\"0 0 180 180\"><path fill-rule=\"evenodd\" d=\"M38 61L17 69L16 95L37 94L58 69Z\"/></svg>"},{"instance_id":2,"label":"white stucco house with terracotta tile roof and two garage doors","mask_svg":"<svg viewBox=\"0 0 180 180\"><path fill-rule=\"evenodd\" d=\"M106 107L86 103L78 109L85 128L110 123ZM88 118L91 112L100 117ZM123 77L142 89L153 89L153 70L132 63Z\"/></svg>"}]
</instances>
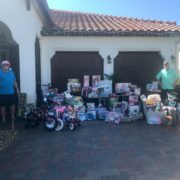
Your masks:
<instances>
[{"instance_id":1,"label":"white stucco house with terracotta tile roof and two garage doors","mask_svg":"<svg viewBox=\"0 0 180 180\"><path fill-rule=\"evenodd\" d=\"M142 17L143 18L143 17ZM43 84L117 74L144 86L166 59L180 69L175 22L50 10L46 0L0 0L0 60L9 59L28 102Z\"/></svg>"}]
</instances>

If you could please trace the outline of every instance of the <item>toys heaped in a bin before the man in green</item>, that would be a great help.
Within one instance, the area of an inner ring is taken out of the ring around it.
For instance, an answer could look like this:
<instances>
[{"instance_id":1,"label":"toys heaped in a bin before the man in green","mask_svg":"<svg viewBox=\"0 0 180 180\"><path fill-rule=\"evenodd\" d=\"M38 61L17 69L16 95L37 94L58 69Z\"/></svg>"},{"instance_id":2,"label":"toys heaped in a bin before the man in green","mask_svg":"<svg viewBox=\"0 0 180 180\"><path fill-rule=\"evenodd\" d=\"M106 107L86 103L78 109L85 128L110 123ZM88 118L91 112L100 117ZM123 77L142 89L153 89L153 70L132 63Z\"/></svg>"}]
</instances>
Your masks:
<instances>
[{"instance_id":1,"label":"toys heaped in a bin before the man in green","mask_svg":"<svg viewBox=\"0 0 180 180\"><path fill-rule=\"evenodd\" d=\"M163 104L159 94L141 96L143 111L148 124L176 125L180 103L176 93L168 93L168 99Z\"/></svg>"}]
</instances>

